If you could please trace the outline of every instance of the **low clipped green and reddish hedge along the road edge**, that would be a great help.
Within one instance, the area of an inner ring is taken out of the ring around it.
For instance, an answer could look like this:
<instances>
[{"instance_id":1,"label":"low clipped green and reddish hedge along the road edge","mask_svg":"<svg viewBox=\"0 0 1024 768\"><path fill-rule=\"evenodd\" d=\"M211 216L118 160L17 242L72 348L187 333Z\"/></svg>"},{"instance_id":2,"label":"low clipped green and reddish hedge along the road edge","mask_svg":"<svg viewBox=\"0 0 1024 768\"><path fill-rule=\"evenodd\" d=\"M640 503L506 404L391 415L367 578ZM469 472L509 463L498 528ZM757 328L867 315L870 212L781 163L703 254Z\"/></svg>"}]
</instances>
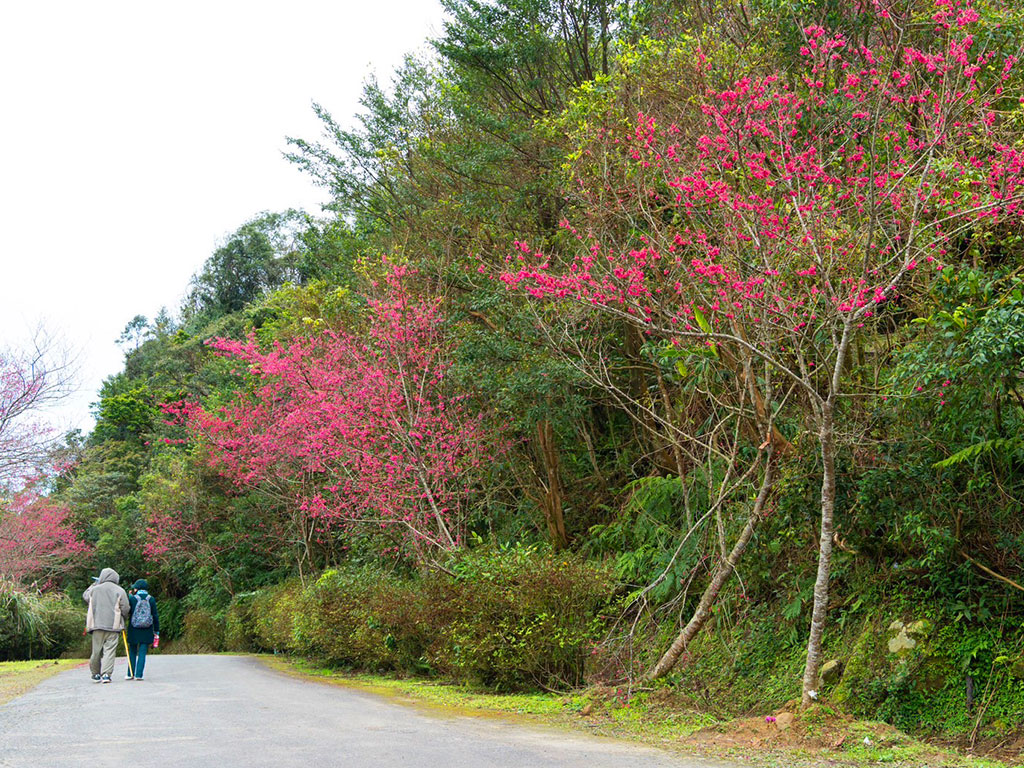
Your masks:
<instances>
[{"instance_id":1,"label":"low clipped green and reddish hedge along the road edge","mask_svg":"<svg viewBox=\"0 0 1024 768\"><path fill-rule=\"evenodd\" d=\"M439 675L496 690L581 684L615 583L603 566L532 547L465 553L449 573L328 570L240 595L217 621L223 647L332 666ZM186 625L206 624L199 617Z\"/></svg>"}]
</instances>

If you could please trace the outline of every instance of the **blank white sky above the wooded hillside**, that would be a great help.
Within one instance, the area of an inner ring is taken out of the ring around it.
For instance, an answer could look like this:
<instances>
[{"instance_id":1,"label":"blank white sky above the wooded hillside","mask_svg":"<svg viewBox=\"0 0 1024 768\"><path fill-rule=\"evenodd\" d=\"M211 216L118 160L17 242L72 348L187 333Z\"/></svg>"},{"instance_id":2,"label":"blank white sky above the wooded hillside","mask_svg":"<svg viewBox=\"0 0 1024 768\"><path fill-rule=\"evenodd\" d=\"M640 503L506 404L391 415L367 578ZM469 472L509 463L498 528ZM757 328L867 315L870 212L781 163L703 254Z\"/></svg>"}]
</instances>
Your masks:
<instances>
[{"instance_id":1,"label":"blank white sky above the wooded hillside","mask_svg":"<svg viewBox=\"0 0 1024 768\"><path fill-rule=\"evenodd\" d=\"M282 153L342 124L441 30L437 0L0 3L0 348L42 323L80 355L61 426L118 372L136 314L172 312L262 211L318 212Z\"/></svg>"}]
</instances>

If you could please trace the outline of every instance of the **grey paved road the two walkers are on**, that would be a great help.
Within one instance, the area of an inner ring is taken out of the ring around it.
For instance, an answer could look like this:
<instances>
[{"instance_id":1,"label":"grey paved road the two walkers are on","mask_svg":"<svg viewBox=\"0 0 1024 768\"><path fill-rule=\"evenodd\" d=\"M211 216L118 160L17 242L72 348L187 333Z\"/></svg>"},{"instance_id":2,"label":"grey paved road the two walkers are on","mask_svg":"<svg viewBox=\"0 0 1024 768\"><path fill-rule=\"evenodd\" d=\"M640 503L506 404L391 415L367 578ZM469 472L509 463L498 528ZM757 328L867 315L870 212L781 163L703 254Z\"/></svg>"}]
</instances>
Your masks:
<instances>
[{"instance_id":1,"label":"grey paved road the two walkers are on","mask_svg":"<svg viewBox=\"0 0 1024 768\"><path fill-rule=\"evenodd\" d=\"M711 768L632 744L298 680L245 656L154 656L144 682L63 672L0 707L0 768Z\"/></svg>"}]
</instances>

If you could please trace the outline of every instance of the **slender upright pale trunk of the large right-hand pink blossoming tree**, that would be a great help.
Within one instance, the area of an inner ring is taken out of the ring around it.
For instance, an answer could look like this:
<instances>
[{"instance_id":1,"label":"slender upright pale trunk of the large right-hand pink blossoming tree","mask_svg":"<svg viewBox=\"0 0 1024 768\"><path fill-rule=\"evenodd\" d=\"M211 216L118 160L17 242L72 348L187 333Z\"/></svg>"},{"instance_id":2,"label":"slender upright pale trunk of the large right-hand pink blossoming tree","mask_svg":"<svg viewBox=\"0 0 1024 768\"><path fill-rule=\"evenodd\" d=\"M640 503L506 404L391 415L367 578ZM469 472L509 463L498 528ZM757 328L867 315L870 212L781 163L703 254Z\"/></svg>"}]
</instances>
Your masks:
<instances>
[{"instance_id":1,"label":"slender upright pale trunk of the large right-hand pink blossoming tree","mask_svg":"<svg viewBox=\"0 0 1024 768\"><path fill-rule=\"evenodd\" d=\"M818 539L818 574L814 582L814 608L811 611L811 634L807 639L807 662L804 666L804 690L801 708L814 700L812 691L818 689L818 671L821 669L821 637L824 634L828 610L828 580L831 573L831 548L834 514L836 511L836 436L834 432L833 400L821 408L818 425L818 442L821 447L821 535Z\"/></svg>"}]
</instances>

